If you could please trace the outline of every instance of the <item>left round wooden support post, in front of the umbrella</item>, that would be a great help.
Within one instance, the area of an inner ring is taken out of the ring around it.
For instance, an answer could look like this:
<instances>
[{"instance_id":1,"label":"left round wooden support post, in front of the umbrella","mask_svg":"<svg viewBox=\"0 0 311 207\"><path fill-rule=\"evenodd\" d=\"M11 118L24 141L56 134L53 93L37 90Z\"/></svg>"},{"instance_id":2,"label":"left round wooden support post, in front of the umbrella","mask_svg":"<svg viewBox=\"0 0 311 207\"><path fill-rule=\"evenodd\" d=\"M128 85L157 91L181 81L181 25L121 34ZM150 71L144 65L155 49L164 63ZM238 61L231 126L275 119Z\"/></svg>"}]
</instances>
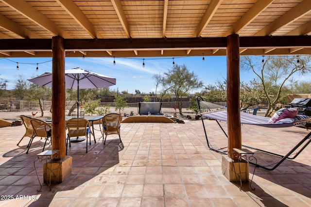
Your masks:
<instances>
[{"instance_id":1,"label":"left round wooden support post, in front of the umbrella","mask_svg":"<svg viewBox=\"0 0 311 207\"><path fill-rule=\"evenodd\" d=\"M64 38L52 37L52 159L66 157Z\"/></svg>"}]
</instances>

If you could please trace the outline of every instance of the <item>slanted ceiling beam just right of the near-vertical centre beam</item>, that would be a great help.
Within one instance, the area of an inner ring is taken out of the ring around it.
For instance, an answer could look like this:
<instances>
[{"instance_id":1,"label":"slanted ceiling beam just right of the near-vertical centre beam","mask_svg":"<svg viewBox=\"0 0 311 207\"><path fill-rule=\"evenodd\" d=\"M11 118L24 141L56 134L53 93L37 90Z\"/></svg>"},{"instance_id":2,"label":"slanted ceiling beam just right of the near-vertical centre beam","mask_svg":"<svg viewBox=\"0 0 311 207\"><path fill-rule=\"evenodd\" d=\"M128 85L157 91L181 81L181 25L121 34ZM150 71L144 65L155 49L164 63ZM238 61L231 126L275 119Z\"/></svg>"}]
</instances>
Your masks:
<instances>
[{"instance_id":1,"label":"slanted ceiling beam just right of the near-vertical centre beam","mask_svg":"<svg viewBox=\"0 0 311 207\"><path fill-rule=\"evenodd\" d=\"M211 0L207 6L207 10L205 11L203 17L201 18L195 32L193 33L193 37L201 36L202 32L204 32L207 24L214 16L215 12L217 11L218 7L221 5L223 0Z\"/></svg>"}]
</instances>

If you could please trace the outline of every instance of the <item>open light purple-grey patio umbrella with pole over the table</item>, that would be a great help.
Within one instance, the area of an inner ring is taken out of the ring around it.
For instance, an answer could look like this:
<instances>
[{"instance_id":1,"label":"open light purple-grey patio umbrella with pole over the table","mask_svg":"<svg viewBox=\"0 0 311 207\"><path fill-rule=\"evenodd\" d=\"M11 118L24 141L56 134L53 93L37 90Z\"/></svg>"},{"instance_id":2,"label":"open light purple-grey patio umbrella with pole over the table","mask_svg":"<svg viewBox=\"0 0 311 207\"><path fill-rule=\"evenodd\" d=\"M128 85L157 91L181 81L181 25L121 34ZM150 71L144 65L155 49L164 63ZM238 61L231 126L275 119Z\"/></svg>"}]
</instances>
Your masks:
<instances>
[{"instance_id":1,"label":"open light purple-grey patio umbrella with pole over the table","mask_svg":"<svg viewBox=\"0 0 311 207\"><path fill-rule=\"evenodd\" d=\"M52 72L43 73L42 75L29 79L29 81L42 86L52 87ZM86 71L76 67L65 70L65 88L77 89L77 116L79 117L79 89L104 88L116 84L116 79L104 76L98 73ZM75 141L75 140L71 140ZM80 141L80 140L79 140Z\"/></svg>"}]
</instances>

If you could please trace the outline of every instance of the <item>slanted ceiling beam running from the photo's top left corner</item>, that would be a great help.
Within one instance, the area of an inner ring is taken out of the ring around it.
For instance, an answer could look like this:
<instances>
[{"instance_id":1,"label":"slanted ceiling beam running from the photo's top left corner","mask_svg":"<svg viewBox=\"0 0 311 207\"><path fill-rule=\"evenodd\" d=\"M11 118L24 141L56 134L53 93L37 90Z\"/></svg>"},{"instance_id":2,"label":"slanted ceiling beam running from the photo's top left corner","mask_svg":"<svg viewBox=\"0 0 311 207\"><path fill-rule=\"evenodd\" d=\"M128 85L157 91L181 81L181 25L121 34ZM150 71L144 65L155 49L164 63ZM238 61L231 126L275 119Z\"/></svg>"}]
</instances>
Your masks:
<instances>
[{"instance_id":1,"label":"slanted ceiling beam running from the photo's top left corner","mask_svg":"<svg viewBox=\"0 0 311 207\"><path fill-rule=\"evenodd\" d=\"M35 24L40 25L45 30L51 32L53 35L58 35L64 38L72 38L69 33L62 30L58 27L54 22L52 22L49 18L42 15L38 10L32 7L25 0L1 0L7 6L11 7L15 11L19 12L21 15L29 18Z\"/></svg>"}]
</instances>

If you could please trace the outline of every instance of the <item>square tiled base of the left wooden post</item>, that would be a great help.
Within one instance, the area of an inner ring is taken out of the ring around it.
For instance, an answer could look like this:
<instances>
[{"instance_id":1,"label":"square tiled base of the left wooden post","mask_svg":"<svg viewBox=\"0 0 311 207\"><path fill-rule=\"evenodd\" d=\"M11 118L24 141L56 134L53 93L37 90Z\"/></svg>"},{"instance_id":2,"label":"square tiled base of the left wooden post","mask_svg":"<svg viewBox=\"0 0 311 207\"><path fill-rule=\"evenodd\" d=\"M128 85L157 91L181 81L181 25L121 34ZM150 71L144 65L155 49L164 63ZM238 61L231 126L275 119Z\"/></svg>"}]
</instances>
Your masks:
<instances>
[{"instance_id":1,"label":"square tiled base of the left wooden post","mask_svg":"<svg viewBox=\"0 0 311 207\"><path fill-rule=\"evenodd\" d=\"M51 182L61 183L63 182L69 175L71 175L72 168L72 157L66 156L62 159L61 163L59 160L52 160L52 170L51 163L44 163L43 165L43 182Z\"/></svg>"}]
</instances>

